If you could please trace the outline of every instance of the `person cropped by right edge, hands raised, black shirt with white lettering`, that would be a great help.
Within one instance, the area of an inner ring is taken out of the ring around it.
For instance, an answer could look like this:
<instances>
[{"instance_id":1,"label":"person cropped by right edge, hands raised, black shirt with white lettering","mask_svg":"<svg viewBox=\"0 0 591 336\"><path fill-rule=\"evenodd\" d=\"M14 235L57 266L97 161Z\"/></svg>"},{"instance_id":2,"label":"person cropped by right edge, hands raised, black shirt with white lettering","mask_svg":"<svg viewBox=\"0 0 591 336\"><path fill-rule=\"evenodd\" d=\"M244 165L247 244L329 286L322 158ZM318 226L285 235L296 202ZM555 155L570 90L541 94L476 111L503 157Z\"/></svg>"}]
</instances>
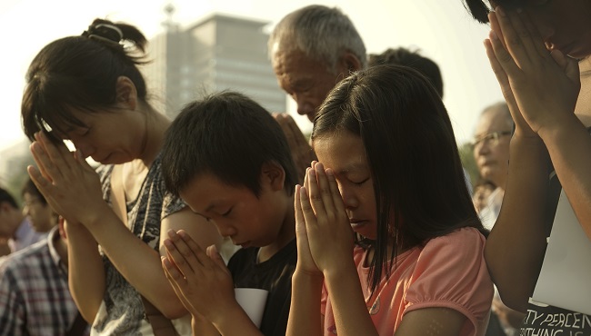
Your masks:
<instances>
[{"instance_id":1,"label":"person cropped by right edge, hands raised, black shirt with white lettering","mask_svg":"<svg viewBox=\"0 0 591 336\"><path fill-rule=\"evenodd\" d=\"M486 54L516 122L505 198L486 243L488 268L506 305L527 312L522 334L591 334L591 316L530 300L548 236L567 223L555 220L559 198L576 216L573 230L591 239L591 2L465 3L476 20L490 22ZM556 296L580 297L560 287L566 292Z\"/></svg>"}]
</instances>

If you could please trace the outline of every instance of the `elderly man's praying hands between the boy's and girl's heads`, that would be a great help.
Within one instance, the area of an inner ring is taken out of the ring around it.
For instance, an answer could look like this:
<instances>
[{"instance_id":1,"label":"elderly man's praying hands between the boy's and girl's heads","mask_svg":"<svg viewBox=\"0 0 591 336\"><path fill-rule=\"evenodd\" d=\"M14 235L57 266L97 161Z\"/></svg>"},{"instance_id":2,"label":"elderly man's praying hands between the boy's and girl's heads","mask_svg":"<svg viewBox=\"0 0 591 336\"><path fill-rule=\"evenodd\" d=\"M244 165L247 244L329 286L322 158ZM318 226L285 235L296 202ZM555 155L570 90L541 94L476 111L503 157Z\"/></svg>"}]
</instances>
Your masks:
<instances>
[{"instance_id":1,"label":"elderly man's praying hands between the boy's and girl's heads","mask_svg":"<svg viewBox=\"0 0 591 336\"><path fill-rule=\"evenodd\" d=\"M294 159L295 169L297 171L297 181L302 183L304 176L306 175L306 168L309 163L316 160L316 154L310 143L307 142L304 133L295 124L294 118L289 114L273 114L275 120L281 126L285 138L287 138L287 144L291 150L292 158Z\"/></svg>"}]
</instances>

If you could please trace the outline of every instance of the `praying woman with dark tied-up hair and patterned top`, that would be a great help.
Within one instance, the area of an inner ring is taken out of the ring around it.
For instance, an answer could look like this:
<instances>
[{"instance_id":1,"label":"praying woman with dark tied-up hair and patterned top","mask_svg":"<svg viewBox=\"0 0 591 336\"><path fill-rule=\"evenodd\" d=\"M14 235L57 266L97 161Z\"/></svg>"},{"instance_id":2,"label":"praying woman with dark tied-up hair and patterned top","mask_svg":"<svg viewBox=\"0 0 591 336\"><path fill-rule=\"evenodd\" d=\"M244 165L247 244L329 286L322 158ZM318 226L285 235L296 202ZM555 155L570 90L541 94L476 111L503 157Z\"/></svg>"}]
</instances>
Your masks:
<instances>
[{"instance_id":1,"label":"praying woman with dark tied-up hair and patterned top","mask_svg":"<svg viewBox=\"0 0 591 336\"><path fill-rule=\"evenodd\" d=\"M69 285L93 334L152 335L154 307L155 319L190 332L160 267L162 238L183 228L205 248L219 237L165 190L160 150L170 121L146 100L137 67L145 44L134 26L96 19L82 35L47 44L26 75L22 117L39 167L28 172L67 222ZM89 156L101 163L96 172Z\"/></svg>"}]
</instances>

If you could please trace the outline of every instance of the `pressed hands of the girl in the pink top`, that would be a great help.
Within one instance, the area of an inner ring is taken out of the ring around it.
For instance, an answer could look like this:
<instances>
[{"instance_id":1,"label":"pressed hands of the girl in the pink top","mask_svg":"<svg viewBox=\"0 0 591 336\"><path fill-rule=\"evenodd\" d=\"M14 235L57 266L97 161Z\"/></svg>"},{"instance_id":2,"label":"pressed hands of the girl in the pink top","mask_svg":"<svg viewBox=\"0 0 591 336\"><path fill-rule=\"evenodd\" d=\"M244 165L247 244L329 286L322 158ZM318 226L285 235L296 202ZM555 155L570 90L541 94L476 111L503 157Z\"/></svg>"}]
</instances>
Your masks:
<instances>
[{"instance_id":1,"label":"pressed hands of the girl in the pink top","mask_svg":"<svg viewBox=\"0 0 591 336\"><path fill-rule=\"evenodd\" d=\"M307 170L304 187L297 191L296 226L301 227L302 221L306 225L307 244L314 264L325 277L340 274L342 267L354 265L354 234L335 174L331 169L325 170L322 163L313 162Z\"/></svg>"}]
</instances>

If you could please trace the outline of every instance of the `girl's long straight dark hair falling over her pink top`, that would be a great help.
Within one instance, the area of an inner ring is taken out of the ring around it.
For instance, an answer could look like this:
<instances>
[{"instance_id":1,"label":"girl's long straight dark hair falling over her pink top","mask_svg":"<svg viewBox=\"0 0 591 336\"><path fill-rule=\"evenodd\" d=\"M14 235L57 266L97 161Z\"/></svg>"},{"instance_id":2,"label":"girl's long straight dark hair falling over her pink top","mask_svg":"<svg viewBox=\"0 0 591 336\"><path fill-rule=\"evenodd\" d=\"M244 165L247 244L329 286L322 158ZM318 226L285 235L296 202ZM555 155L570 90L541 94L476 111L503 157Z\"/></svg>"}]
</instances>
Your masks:
<instances>
[{"instance_id":1,"label":"girl's long straight dark hair falling over her pink top","mask_svg":"<svg viewBox=\"0 0 591 336\"><path fill-rule=\"evenodd\" d=\"M378 65L337 84L319 109L312 139L342 132L361 137L374 182L376 240L364 240L375 249L372 292L396 267L398 252L466 226L486 234L446 108L422 74Z\"/></svg>"}]
</instances>

